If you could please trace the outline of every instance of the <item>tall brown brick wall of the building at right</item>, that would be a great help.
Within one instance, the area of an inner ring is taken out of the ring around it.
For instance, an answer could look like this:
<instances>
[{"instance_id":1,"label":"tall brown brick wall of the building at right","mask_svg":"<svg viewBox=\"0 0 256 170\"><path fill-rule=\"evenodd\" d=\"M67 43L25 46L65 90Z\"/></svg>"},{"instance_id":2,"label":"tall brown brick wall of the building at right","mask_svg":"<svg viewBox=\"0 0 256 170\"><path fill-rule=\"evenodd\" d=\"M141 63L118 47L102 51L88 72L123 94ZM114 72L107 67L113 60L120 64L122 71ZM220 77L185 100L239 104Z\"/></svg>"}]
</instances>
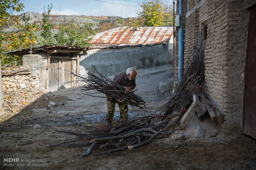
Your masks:
<instances>
[{"instance_id":1,"label":"tall brown brick wall of the building at right","mask_svg":"<svg viewBox=\"0 0 256 170\"><path fill-rule=\"evenodd\" d=\"M241 130L249 14L244 8L252 3L253 0L201 0L196 8L194 1L188 5L188 11L186 6L183 7L186 17L185 60L198 34L204 35L204 28L207 27L204 39L205 91L213 104L225 114L224 123L219 124L223 133ZM178 38L176 40L177 47ZM178 47L176 50L178 52ZM175 62L175 78L177 84L178 62Z\"/></svg>"}]
</instances>

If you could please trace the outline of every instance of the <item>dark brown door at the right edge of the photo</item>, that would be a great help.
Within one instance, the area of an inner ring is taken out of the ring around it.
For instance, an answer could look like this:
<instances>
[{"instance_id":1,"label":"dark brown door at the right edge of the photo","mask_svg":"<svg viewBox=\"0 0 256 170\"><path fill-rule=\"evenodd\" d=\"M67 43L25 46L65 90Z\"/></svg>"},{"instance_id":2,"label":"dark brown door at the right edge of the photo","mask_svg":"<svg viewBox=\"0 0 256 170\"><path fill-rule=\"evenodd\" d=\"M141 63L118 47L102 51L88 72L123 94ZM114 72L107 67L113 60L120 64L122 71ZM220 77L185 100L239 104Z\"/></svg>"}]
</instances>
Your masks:
<instances>
[{"instance_id":1,"label":"dark brown door at the right edge of the photo","mask_svg":"<svg viewBox=\"0 0 256 170\"><path fill-rule=\"evenodd\" d=\"M256 138L256 5L250 9L242 132Z\"/></svg>"}]
</instances>

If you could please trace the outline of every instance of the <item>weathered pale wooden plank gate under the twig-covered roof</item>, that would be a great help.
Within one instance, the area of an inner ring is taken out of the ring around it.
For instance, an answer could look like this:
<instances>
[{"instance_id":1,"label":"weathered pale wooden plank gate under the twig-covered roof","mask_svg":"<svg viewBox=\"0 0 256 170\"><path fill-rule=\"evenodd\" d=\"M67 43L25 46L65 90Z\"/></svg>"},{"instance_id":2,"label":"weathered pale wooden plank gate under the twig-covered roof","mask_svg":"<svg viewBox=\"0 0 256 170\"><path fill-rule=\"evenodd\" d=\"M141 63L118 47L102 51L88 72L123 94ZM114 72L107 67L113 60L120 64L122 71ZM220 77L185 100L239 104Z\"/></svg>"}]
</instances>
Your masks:
<instances>
[{"instance_id":1,"label":"weathered pale wooden plank gate under the twig-covered roof","mask_svg":"<svg viewBox=\"0 0 256 170\"><path fill-rule=\"evenodd\" d=\"M49 91L72 86L72 60L50 57Z\"/></svg>"}]
</instances>

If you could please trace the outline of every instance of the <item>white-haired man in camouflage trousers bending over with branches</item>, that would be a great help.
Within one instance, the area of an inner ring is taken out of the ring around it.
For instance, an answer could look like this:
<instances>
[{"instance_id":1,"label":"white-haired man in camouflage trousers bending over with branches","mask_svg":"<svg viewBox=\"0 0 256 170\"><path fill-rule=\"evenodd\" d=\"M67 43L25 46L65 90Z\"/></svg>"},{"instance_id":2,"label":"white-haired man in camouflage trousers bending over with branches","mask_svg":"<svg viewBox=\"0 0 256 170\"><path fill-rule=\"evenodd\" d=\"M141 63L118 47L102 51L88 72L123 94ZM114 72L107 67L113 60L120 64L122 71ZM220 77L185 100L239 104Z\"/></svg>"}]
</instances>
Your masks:
<instances>
[{"instance_id":1,"label":"white-haired man in camouflage trousers bending over with branches","mask_svg":"<svg viewBox=\"0 0 256 170\"><path fill-rule=\"evenodd\" d=\"M134 67L128 68L126 71L116 74L114 77L114 83L119 84L126 88L126 94L133 90L136 86L135 77L137 76L137 71ZM120 110L120 119L127 120L128 119L128 104L123 99L122 101L118 99L114 99L110 96L107 96L107 115L106 121L107 126L111 126L113 122L114 112L115 112L115 104L118 104Z\"/></svg>"}]
</instances>

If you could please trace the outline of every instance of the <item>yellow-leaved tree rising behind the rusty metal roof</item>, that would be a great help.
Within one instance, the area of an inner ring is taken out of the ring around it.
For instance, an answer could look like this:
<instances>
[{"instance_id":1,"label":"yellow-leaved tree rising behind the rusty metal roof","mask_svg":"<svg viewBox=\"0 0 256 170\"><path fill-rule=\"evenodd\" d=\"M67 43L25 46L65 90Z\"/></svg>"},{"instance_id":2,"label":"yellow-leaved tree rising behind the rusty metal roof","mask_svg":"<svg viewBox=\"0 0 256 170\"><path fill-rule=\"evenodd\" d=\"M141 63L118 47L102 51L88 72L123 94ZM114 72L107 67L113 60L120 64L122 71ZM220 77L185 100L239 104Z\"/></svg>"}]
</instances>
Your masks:
<instances>
[{"instance_id":1,"label":"yellow-leaved tree rising behind the rusty metal roof","mask_svg":"<svg viewBox=\"0 0 256 170\"><path fill-rule=\"evenodd\" d=\"M142 19L142 26L165 26L168 18L168 9L162 0L148 0L140 4L142 11L137 12Z\"/></svg>"}]
</instances>

